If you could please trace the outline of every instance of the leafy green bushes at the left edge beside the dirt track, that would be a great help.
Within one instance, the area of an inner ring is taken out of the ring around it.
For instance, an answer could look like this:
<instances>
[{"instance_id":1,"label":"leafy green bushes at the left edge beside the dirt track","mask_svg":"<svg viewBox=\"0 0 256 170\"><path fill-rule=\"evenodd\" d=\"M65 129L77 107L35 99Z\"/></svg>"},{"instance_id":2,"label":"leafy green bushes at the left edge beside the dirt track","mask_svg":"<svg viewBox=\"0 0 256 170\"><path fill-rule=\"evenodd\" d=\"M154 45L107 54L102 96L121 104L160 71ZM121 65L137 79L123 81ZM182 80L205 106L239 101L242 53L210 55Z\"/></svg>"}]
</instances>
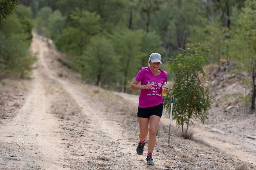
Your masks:
<instances>
[{"instance_id":1,"label":"leafy green bushes at the left edge beside the dirt track","mask_svg":"<svg viewBox=\"0 0 256 170\"><path fill-rule=\"evenodd\" d=\"M0 27L0 80L5 77L26 78L36 60L29 51L31 29L25 29L31 22L16 13L7 20L8 23Z\"/></svg>"}]
</instances>

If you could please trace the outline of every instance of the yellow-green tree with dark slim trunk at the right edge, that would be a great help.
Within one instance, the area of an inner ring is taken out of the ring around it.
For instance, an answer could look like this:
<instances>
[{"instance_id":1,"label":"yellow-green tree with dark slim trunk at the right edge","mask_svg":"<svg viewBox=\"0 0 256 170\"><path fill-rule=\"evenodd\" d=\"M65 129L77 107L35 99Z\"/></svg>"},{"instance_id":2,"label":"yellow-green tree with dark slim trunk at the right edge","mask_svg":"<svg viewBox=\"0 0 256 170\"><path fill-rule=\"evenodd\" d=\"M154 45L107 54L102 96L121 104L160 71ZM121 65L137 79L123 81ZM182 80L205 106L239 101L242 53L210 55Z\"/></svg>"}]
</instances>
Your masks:
<instances>
[{"instance_id":1,"label":"yellow-green tree with dark slim trunk at the right edge","mask_svg":"<svg viewBox=\"0 0 256 170\"><path fill-rule=\"evenodd\" d=\"M256 0L247 0L245 7L238 15L238 25L232 40L233 55L241 62L242 71L246 71L249 82L247 87L251 89L251 109L255 110L256 97Z\"/></svg>"}]
</instances>

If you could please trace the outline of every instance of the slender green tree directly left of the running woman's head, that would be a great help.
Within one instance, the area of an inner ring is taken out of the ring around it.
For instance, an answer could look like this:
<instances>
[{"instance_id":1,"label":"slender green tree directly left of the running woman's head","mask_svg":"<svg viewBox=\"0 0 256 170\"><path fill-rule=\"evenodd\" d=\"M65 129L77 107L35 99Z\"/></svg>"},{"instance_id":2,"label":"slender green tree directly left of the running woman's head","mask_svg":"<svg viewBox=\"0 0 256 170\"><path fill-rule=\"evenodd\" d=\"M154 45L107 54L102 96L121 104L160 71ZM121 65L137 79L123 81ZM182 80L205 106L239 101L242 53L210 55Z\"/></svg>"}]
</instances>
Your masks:
<instances>
[{"instance_id":1,"label":"slender green tree directly left of the running woman's head","mask_svg":"<svg viewBox=\"0 0 256 170\"><path fill-rule=\"evenodd\" d=\"M121 75L119 80L120 91L126 92L130 81L136 76L136 72L141 69L142 57L145 57L145 54L141 52L143 31L131 31L126 27L118 30L111 35L111 39L116 55L120 60L118 70Z\"/></svg>"}]
</instances>

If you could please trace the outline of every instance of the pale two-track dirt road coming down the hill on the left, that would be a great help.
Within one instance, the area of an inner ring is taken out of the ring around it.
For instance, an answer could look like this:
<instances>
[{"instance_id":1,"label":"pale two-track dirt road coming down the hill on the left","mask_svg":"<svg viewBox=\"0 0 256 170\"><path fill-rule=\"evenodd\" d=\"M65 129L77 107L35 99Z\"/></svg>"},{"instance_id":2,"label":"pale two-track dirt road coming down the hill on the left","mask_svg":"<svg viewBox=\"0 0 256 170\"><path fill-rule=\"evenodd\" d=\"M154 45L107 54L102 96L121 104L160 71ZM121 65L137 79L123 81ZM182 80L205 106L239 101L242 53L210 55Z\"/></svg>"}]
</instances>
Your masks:
<instances>
[{"instance_id":1,"label":"pale two-track dirt road coming down the hill on the left","mask_svg":"<svg viewBox=\"0 0 256 170\"><path fill-rule=\"evenodd\" d=\"M48 48L41 39L35 37L31 49L38 52L37 69L26 103L19 114L1 128L1 156L4 157L1 169L74 169L80 164L86 169L97 169L95 166L104 161L108 152L115 152L121 164L138 167L141 163L129 158L138 159L133 152L134 141L127 141L120 124L106 117L104 103L91 99L97 92L82 89L88 87L81 87L80 82L70 82L53 72L45 57ZM86 90L90 92L85 93ZM64 105L72 107L71 113L64 110L68 109ZM86 121L81 120L79 124L74 121L70 128L64 127L67 124L62 125L53 112L64 117L61 122L69 120L68 116L80 116ZM80 139L65 138L71 135L69 132L79 133ZM99 160L91 160L93 157ZM110 167L115 169L115 166L111 163Z\"/></svg>"}]
</instances>

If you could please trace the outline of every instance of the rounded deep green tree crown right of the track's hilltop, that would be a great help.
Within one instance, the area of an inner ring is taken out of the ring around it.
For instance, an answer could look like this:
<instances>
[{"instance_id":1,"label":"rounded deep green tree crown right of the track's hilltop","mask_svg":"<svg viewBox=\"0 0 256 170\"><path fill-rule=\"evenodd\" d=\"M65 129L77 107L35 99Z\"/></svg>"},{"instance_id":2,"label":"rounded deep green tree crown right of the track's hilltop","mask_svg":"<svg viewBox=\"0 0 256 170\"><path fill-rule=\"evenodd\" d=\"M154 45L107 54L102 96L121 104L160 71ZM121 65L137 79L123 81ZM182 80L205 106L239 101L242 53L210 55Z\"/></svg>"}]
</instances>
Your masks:
<instances>
[{"instance_id":1,"label":"rounded deep green tree crown right of the track's hilltop","mask_svg":"<svg viewBox=\"0 0 256 170\"><path fill-rule=\"evenodd\" d=\"M81 56L90 38L101 30L100 17L96 12L76 10L69 14L67 27L63 29L56 46L69 55Z\"/></svg>"}]
</instances>

